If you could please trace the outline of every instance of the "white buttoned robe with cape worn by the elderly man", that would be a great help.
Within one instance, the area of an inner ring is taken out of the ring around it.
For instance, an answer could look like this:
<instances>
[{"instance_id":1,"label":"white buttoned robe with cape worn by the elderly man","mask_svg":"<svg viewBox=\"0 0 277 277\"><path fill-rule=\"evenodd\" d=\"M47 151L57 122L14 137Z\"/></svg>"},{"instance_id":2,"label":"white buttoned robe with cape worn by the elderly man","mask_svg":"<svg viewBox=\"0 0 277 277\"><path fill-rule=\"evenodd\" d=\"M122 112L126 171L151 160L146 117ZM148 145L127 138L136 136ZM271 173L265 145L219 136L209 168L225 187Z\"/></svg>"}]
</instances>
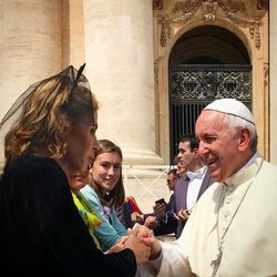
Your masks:
<instances>
[{"instance_id":1,"label":"white buttoned robe with cape worn by the elderly man","mask_svg":"<svg viewBox=\"0 0 277 277\"><path fill-rule=\"evenodd\" d=\"M212 276L220 242L216 276L277 276L277 167L256 157L226 184L214 183L182 236L173 244L162 243L157 276Z\"/></svg>"}]
</instances>

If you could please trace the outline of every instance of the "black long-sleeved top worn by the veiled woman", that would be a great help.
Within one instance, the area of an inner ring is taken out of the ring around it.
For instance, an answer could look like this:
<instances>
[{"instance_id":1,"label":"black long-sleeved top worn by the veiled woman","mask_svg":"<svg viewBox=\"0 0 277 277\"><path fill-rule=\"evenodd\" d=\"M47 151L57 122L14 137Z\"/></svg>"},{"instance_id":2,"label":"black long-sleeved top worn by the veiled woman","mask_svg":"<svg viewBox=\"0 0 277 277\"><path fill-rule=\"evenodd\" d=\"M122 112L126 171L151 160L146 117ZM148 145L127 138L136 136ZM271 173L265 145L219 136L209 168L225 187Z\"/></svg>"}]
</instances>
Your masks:
<instances>
[{"instance_id":1,"label":"black long-sleeved top worn by the veiled woman","mask_svg":"<svg viewBox=\"0 0 277 277\"><path fill-rule=\"evenodd\" d=\"M0 183L0 268L7 276L135 276L131 249L104 255L52 160L18 158Z\"/></svg>"}]
</instances>

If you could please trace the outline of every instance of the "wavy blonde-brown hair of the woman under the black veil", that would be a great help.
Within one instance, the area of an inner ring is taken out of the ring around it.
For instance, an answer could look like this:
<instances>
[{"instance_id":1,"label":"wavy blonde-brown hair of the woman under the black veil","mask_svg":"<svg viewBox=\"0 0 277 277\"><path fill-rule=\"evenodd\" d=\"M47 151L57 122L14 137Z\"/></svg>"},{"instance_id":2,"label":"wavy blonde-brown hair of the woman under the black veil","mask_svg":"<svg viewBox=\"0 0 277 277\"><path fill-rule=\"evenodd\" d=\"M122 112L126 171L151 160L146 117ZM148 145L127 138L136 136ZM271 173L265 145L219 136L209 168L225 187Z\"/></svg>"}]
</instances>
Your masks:
<instances>
[{"instance_id":1,"label":"wavy blonde-brown hair of the woman under the black veil","mask_svg":"<svg viewBox=\"0 0 277 277\"><path fill-rule=\"evenodd\" d=\"M31 92L18 122L4 138L6 165L25 152L61 158L66 152L62 133L73 122L91 122L99 109L91 91L70 76L43 80Z\"/></svg>"}]
</instances>

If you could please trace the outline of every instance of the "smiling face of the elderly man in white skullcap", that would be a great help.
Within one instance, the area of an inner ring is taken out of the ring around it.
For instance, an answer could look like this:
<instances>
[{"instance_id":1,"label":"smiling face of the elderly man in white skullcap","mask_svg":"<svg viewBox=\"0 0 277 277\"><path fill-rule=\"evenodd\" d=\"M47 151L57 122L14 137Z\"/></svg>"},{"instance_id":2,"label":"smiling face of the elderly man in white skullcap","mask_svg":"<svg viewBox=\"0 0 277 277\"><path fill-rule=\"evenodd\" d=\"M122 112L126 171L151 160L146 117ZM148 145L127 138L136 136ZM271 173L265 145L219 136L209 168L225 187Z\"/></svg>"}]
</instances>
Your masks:
<instances>
[{"instance_id":1,"label":"smiling face of the elderly man in white skullcap","mask_svg":"<svg viewBox=\"0 0 277 277\"><path fill-rule=\"evenodd\" d=\"M224 114L203 111L195 133L199 140L198 155L208 166L214 181L224 182L242 167L240 132L223 123Z\"/></svg>"}]
</instances>

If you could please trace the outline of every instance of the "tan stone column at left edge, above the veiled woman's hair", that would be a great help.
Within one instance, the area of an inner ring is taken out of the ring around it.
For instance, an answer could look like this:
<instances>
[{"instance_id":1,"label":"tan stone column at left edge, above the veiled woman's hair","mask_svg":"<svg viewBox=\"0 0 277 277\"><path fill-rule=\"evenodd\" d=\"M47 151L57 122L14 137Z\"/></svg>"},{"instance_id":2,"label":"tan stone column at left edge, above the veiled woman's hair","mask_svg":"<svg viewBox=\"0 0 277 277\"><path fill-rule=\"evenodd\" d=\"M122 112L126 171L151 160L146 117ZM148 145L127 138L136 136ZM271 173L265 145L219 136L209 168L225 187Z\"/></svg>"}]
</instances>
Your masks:
<instances>
[{"instance_id":1,"label":"tan stone column at left edge, above the veiled woman's hair","mask_svg":"<svg viewBox=\"0 0 277 277\"><path fill-rule=\"evenodd\" d=\"M30 84L61 70L61 11L59 0L0 1L1 119Z\"/></svg>"}]
</instances>

